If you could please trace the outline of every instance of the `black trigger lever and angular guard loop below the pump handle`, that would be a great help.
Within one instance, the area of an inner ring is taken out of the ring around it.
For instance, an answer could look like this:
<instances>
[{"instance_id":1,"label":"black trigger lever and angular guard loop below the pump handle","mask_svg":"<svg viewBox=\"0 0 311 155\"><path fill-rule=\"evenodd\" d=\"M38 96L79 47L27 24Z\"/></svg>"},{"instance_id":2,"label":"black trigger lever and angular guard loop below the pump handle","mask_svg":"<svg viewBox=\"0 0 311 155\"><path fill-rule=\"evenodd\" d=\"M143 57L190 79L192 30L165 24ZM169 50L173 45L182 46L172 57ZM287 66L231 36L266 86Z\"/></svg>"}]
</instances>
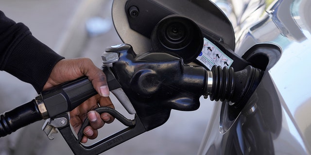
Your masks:
<instances>
[{"instance_id":1,"label":"black trigger lever and angular guard loop below the pump handle","mask_svg":"<svg viewBox=\"0 0 311 155\"><path fill-rule=\"evenodd\" d=\"M83 129L89 124L88 120L85 120L80 129L78 139L72 133L69 123L65 127L58 128L75 155L98 155L147 131L136 114L134 120L128 120L115 109L108 107L100 107L96 111L99 113L107 112L128 127L90 146L85 146L80 142L83 136Z\"/></svg>"}]
</instances>

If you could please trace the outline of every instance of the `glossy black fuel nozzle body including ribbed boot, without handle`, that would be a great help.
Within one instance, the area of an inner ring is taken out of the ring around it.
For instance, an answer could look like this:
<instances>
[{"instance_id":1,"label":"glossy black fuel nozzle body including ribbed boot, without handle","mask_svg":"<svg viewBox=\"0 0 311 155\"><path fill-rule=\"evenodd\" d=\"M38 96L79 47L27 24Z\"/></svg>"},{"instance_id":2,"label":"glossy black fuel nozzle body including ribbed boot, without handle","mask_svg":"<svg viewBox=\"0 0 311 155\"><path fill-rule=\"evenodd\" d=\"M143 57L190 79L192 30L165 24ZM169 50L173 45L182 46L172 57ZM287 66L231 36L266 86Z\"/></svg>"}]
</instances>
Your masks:
<instances>
[{"instance_id":1,"label":"glossy black fuel nozzle body including ribbed boot, without handle","mask_svg":"<svg viewBox=\"0 0 311 155\"><path fill-rule=\"evenodd\" d=\"M241 108L263 75L263 71L252 66L238 72L214 66L209 71L184 64L178 55L163 51L137 55L127 44L110 47L107 54L110 52L119 54L111 70L146 130L164 124L171 109L198 109L202 95Z\"/></svg>"}]
</instances>

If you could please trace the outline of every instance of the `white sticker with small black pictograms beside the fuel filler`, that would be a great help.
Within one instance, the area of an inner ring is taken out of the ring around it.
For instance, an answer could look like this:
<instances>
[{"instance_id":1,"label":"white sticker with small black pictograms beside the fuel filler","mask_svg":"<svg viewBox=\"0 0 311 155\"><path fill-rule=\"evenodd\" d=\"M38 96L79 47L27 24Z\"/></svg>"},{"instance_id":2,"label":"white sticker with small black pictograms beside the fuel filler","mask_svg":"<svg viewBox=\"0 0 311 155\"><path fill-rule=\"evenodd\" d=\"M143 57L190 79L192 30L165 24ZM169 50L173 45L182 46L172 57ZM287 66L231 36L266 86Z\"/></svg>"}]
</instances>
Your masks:
<instances>
[{"instance_id":1,"label":"white sticker with small black pictograms beside the fuel filler","mask_svg":"<svg viewBox=\"0 0 311 155\"><path fill-rule=\"evenodd\" d=\"M209 40L204 38L203 48L200 55L196 58L203 63L209 70L213 65L222 66L222 68L230 67L233 60L225 55L218 47L216 47Z\"/></svg>"}]
</instances>

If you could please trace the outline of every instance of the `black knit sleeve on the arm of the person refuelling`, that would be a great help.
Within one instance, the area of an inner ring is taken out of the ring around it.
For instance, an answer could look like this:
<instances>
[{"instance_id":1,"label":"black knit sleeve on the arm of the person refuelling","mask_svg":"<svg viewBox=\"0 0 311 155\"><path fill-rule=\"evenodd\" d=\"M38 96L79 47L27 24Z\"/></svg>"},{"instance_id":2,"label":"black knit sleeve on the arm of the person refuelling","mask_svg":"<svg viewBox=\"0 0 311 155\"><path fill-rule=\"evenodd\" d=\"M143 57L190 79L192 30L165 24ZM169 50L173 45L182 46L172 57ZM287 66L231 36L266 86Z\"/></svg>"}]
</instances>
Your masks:
<instances>
[{"instance_id":1,"label":"black knit sleeve on the arm of the person refuelling","mask_svg":"<svg viewBox=\"0 0 311 155\"><path fill-rule=\"evenodd\" d=\"M38 41L22 23L0 11L0 70L33 85L39 93L54 65L64 57Z\"/></svg>"}]
</instances>

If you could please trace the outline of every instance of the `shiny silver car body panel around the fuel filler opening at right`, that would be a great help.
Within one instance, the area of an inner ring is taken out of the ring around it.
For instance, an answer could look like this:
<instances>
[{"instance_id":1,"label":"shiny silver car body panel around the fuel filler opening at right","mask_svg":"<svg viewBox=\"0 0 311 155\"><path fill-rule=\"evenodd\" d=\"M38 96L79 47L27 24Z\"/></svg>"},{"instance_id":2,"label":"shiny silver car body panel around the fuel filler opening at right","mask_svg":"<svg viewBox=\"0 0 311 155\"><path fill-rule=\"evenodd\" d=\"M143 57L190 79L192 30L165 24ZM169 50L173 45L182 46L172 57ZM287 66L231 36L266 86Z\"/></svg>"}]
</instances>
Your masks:
<instances>
[{"instance_id":1,"label":"shiny silver car body panel around the fuel filler opening at right","mask_svg":"<svg viewBox=\"0 0 311 155\"><path fill-rule=\"evenodd\" d=\"M311 0L218 0L236 34L235 52L273 45L265 74L232 118L216 104L198 155L311 153Z\"/></svg>"}]
</instances>

